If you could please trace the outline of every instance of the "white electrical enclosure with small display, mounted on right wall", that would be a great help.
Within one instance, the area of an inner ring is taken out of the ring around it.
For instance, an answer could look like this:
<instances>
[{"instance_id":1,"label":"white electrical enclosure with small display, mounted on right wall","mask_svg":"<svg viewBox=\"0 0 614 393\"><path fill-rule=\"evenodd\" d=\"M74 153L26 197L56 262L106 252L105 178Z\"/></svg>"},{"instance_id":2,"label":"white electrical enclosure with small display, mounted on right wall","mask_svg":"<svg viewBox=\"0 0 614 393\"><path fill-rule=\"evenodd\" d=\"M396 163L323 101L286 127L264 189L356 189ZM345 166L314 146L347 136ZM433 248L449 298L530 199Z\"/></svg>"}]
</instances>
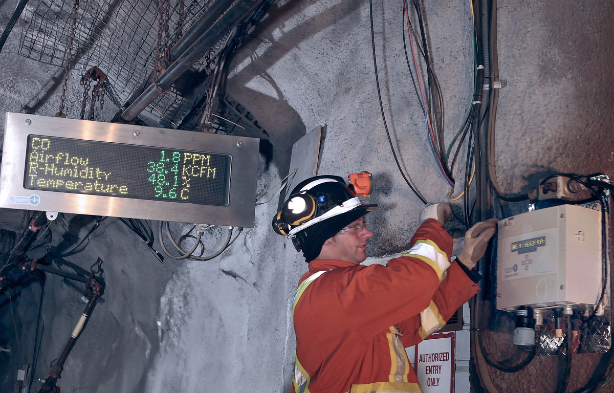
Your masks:
<instances>
[{"instance_id":1,"label":"white electrical enclosure with small display, mounted on right wall","mask_svg":"<svg viewBox=\"0 0 614 393\"><path fill-rule=\"evenodd\" d=\"M499 221L497 308L594 305L602 289L601 214L572 204Z\"/></svg>"}]
</instances>

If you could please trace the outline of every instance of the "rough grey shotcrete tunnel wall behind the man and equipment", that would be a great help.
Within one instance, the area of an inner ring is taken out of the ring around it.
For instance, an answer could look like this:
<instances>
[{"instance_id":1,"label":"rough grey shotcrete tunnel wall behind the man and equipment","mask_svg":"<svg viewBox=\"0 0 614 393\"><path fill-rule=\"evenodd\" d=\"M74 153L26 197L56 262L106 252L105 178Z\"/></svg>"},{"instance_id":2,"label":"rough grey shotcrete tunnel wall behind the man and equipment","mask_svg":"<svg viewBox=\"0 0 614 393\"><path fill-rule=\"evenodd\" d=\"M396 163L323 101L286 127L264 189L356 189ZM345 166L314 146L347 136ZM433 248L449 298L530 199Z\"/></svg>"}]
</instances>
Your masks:
<instances>
[{"instance_id":1,"label":"rough grey shotcrete tunnel wall behind the man and equipment","mask_svg":"<svg viewBox=\"0 0 614 393\"><path fill-rule=\"evenodd\" d=\"M6 25L15 4L0 4L0 25ZM370 203L380 208L368 217L375 235L367 252L379 257L408 248L422 203L398 172L384 132L369 6L364 0L278 1L235 56L227 89L249 105L273 144L273 163L267 166L260 159L258 193L286 176L293 142L320 125L327 125L327 131L319 174L373 173ZM445 0L427 1L424 7L449 142L472 101L471 9L469 2ZM405 173L428 201L444 201L450 189L430 153L424 115L406 68L402 13L402 2L374 1L384 112ZM500 77L507 80L497 112L502 189L527 191L559 171L614 175L614 3L500 2L498 14ZM61 78L63 69L18 56L18 35L19 23L0 53L0 108L53 115L61 89L48 81ZM69 79L72 118L78 116L82 97L81 72L72 71ZM96 120L111 120L117 108L106 105ZM107 287L105 302L96 307L66 363L58 382L63 391L288 392L295 345L290 300L306 264L289 240L271 230L277 204L274 198L257 206L255 227L246 228L228 251L209 262L167 258L161 264L119 220L101 222L87 249L68 258L89 268L101 257ZM17 231L21 214L0 213L2 221L6 217L4 228ZM76 244L92 222L71 215L56 220L50 227L52 243ZM157 222L152 224L155 228ZM189 227L172 228L177 237ZM458 235L461 225L453 222L449 229ZM224 231L211 232L206 252L219 246ZM47 279L44 291L36 378L47 374L84 308L60 279ZM26 363L32 361L40 293L32 284L12 305ZM0 309L7 328L0 338L14 342L7 307ZM23 361L15 349L3 356L7 372L0 386L10 389ZM546 364L550 360L540 364L554 367ZM588 372L576 374L573 386L586 382ZM525 376L536 379L542 373L527 370Z\"/></svg>"}]
</instances>

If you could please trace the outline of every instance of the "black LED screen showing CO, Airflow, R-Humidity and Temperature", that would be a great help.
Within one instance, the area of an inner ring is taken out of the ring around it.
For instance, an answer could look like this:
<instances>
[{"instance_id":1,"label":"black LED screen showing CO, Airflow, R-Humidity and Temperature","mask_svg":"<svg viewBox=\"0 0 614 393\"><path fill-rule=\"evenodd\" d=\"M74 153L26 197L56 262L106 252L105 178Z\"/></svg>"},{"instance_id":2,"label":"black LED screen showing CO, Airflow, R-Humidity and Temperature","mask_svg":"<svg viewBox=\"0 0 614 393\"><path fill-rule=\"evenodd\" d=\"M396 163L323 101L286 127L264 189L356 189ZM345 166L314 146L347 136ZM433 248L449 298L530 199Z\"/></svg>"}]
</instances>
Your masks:
<instances>
[{"instance_id":1,"label":"black LED screen showing CO, Airflow, R-Humidity and Temperature","mask_svg":"<svg viewBox=\"0 0 614 393\"><path fill-rule=\"evenodd\" d=\"M28 135L23 187L227 206L231 156Z\"/></svg>"}]
</instances>

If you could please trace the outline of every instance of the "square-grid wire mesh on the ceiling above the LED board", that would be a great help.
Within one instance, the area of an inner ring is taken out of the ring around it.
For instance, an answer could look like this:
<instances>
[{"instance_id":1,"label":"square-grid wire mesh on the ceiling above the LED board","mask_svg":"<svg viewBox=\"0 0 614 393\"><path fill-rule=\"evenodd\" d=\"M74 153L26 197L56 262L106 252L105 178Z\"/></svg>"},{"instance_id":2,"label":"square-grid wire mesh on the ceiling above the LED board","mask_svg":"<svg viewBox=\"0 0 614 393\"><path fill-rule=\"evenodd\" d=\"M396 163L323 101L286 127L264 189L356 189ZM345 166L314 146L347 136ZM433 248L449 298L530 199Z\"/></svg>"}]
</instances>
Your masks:
<instances>
[{"instance_id":1,"label":"square-grid wire mesh on the ceiling above the LED board","mask_svg":"<svg viewBox=\"0 0 614 393\"><path fill-rule=\"evenodd\" d=\"M209 1L185 1L184 31L207 11ZM170 0L171 40L179 20L177 0ZM72 0L31 2L24 12L19 54L42 63L64 66L72 25ZM116 104L123 104L131 91L152 72L158 48L158 1L81 0L73 42L71 67L98 66L107 74ZM202 64L195 64L195 68ZM78 68L78 67L77 67ZM163 126L176 126L192 103L175 89L160 96L146 111ZM179 117L177 119L177 117Z\"/></svg>"}]
</instances>

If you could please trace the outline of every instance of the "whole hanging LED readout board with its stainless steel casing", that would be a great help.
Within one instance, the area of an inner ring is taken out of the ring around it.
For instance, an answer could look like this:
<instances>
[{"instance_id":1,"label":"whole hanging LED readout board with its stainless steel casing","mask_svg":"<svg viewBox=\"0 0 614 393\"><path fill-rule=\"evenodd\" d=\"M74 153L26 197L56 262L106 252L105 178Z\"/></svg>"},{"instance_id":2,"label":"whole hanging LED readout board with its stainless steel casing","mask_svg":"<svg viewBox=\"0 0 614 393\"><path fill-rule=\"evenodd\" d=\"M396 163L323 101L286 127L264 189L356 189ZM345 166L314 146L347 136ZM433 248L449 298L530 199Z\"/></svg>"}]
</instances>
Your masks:
<instances>
[{"instance_id":1,"label":"whole hanging LED readout board with its stainless steel casing","mask_svg":"<svg viewBox=\"0 0 614 393\"><path fill-rule=\"evenodd\" d=\"M36 160L41 139L63 147ZM253 227L258 146L257 138L7 112L0 207ZM163 162L165 153L173 161ZM206 179L216 169L215 182ZM100 185L104 176L120 177Z\"/></svg>"}]
</instances>

